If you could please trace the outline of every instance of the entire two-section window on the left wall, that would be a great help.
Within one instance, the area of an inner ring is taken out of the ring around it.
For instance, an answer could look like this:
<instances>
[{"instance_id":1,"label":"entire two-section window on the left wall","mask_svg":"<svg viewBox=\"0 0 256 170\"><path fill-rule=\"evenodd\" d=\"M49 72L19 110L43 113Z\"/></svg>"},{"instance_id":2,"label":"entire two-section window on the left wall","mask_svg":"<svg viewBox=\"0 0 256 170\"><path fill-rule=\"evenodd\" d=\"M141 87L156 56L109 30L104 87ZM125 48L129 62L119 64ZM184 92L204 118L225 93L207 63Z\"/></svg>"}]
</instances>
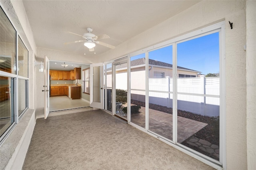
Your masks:
<instances>
[{"instance_id":1,"label":"entire two-section window on the left wall","mask_svg":"<svg viewBox=\"0 0 256 170\"><path fill-rule=\"evenodd\" d=\"M1 143L28 109L28 49L2 8L0 16Z\"/></svg>"}]
</instances>

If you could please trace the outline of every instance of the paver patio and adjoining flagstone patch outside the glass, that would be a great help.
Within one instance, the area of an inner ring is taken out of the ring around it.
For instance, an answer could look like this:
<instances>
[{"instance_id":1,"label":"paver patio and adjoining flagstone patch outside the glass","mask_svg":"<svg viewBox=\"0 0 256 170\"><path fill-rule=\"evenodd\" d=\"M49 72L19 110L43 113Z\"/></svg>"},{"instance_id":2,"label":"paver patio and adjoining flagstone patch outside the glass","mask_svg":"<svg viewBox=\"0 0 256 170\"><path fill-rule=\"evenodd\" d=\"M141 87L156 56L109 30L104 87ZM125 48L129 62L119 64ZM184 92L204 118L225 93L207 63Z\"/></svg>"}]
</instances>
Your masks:
<instances>
[{"instance_id":1,"label":"paver patio and adjoining flagstone patch outside the glass","mask_svg":"<svg viewBox=\"0 0 256 170\"><path fill-rule=\"evenodd\" d=\"M131 122L145 128L145 107L141 107L140 113L131 115ZM179 116L177 122L178 143L182 143L189 138L186 141L187 144L219 158L219 146L193 136L208 124ZM172 114L149 109L149 130L172 140Z\"/></svg>"}]
</instances>

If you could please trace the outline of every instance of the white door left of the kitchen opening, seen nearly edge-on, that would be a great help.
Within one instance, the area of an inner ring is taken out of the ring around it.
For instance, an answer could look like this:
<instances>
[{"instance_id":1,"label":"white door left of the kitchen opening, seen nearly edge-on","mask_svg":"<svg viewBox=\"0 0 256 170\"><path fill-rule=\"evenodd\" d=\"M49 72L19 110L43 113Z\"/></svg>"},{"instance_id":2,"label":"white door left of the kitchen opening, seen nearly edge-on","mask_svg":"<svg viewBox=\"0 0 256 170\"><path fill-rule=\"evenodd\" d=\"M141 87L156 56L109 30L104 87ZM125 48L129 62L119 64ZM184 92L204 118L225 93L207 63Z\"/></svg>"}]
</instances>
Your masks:
<instances>
[{"instance_id":1,"label":"white door left of the kitchen opening, seen nearly edge-on","mask_svg":"<svg viewBox=\"0 0 256 170\"><path fill-rule=\"evenodd\" d=\"M50 109L50 73L49 73L49 59L44 56L44 119L49 115Z\"/></svg>"}]
</instances>

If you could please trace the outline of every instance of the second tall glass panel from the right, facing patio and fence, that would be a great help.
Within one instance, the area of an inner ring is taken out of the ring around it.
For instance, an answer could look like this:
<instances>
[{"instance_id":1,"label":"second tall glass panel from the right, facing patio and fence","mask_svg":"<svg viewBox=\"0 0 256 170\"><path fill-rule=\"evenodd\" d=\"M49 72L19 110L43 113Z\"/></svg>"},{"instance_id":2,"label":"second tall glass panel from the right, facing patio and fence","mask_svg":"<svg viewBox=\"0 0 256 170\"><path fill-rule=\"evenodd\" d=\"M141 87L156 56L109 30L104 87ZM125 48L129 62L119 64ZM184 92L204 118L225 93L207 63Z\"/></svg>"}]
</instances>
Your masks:
<instances>
[{"instance_id":1,"label":"second tall glass panel from the right, facing patio and fence","mask_svg":"<svg viewBox=\"0 0 256 170\"><path fill-rule=\"evenodd\" d=\"M172 45L149 51L148 66L148 130L172 140Z\"/></svg>"}]
</instances>

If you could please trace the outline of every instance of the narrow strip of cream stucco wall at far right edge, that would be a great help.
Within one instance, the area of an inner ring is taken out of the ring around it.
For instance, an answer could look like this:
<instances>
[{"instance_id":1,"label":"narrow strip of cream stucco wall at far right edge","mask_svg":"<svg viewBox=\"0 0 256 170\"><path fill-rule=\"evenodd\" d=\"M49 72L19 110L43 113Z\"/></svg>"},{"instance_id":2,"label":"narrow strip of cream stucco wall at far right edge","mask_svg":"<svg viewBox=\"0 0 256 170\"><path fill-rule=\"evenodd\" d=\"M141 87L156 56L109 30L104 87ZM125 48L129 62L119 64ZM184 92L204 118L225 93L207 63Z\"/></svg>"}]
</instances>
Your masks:
<instances>
[{"instance_id":1,"label":"narrow strip of cream stucco wall at far right edge","mask_svg":"<svg viewBox=\"0 0 256 170\"><path fill-rule=\"evenodd\" d=\"M247 168L256 169L256 1L246 1Z\"/></svg>"}]
</instances>

